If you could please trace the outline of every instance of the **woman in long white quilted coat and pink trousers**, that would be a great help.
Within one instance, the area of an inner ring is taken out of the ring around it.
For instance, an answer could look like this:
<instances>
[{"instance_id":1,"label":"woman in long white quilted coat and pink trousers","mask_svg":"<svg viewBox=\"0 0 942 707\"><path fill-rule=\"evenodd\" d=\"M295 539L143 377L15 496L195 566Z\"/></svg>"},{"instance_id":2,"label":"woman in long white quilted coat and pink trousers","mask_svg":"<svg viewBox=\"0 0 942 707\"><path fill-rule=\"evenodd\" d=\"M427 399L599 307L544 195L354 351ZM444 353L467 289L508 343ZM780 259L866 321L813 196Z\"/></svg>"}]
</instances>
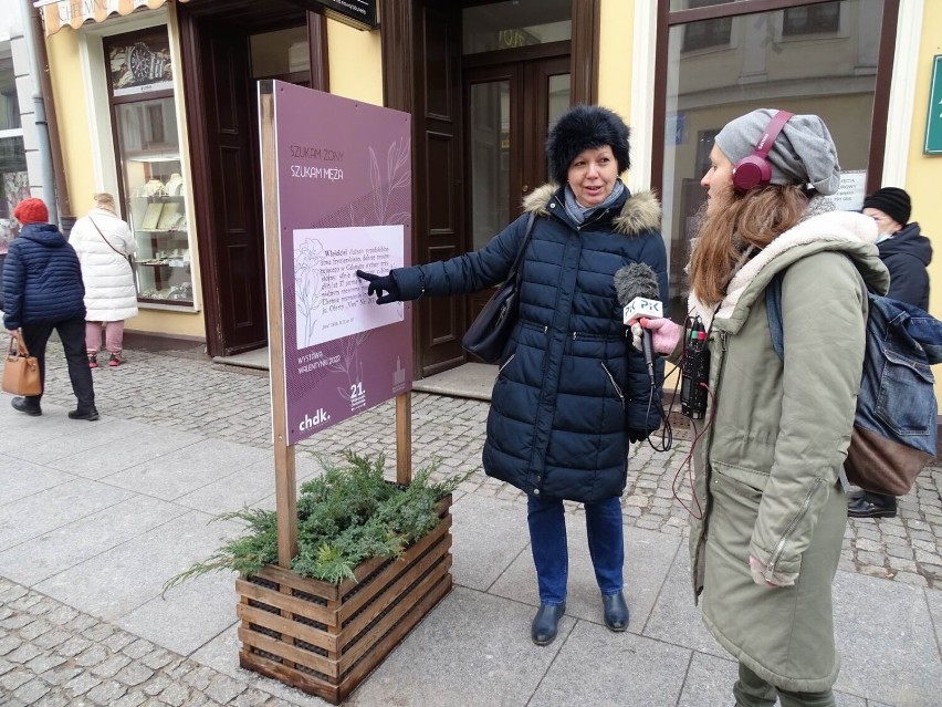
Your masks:
<instances>
[{"instance_id":1,"label":"woman in long white quilted coat and pink trousers","mask_svg":"<svg viewBox=\"0 0 942 707\"><path fill-rule=\"evenodd\" d=\"M121 219L111 194L96 194L95 208L80 218L69 236L78 253L85 282L85 350L88 367L98 367L102 324L109 366L124 361L124 320L137 316L137 289L128 257L137 245L128 225Z\"/></svg>"}]
</instances>

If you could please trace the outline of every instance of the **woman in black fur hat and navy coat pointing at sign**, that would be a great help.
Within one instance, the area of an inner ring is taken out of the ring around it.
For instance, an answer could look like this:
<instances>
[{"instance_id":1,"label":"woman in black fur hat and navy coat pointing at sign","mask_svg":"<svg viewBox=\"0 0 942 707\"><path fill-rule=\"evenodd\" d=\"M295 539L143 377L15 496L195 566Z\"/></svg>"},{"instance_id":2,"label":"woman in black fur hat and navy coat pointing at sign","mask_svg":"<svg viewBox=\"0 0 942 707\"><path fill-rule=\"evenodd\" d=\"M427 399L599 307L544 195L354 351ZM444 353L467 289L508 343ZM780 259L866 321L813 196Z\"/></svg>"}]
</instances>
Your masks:
<instances>
[{"instance_id":1,"label":"woman in black fur hat and navy coat pointing at sign","mask_svg":"<svg viewBox=\"0 0 942 707\"><path fill-rule=\"evenodd\" d=\"M660 425L663 364L649 381L626 339L615 273L648 264L667 300L661 209L631 195L628 127L615 113L576 106L551 129L551 184L524 200L520 218L477 252L387 275L357 271L377 303L477 292L504 281L536 217L521 266L520 311L491 398L484 471L527 495L540 609L536 645L553 642L566 611L568 555L563 501L585 505L589 554L611 631L628 627L622 595L621 493L629 444Z\"/></svg>"}]
</instances>

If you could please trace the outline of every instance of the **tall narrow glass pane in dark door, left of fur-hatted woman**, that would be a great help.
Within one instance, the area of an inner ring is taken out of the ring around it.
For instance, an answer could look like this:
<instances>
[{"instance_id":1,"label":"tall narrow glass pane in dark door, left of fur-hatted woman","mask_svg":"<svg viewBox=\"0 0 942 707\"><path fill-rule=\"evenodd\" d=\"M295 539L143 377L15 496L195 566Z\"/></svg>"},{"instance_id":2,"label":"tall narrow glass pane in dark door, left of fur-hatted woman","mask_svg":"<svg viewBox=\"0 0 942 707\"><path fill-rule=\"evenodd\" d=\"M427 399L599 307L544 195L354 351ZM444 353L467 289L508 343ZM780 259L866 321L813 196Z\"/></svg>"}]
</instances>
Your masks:
<instances>
[{"instance_id":1,"label":"tall narrow glass pane in dark door, left of fur-hatted woman","mask_svg":"<svg viewBox=\"0 0 942 707\"><path fill-rule=\"evenodd\" d=\"M510 82L471 86L471 236L478 250L510 222Z\"/></svg>"}]
</instances>

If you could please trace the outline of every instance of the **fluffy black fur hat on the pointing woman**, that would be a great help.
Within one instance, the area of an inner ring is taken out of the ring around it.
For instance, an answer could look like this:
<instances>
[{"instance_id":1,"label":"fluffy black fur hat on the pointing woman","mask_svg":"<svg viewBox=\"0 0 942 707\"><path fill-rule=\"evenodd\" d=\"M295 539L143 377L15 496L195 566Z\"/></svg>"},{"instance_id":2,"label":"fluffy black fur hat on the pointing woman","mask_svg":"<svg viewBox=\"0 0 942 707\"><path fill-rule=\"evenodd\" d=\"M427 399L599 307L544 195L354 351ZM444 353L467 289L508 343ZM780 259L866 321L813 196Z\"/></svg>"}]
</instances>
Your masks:
<instances>
[{"instance_id":1,"label":"fluffy black fur hat on the pointing woman","mask_svg":"<svg viewBox=\"0 0 942 707\"><path fill-rule=\"evenodd\" d=\"M566 184L569 164L586 149L608 145L618 163L618 174L631 166L628 158L628 126L618 115L598 105L576 105L559 116L546 138L550 178Z\"/></svg>"}]
</instances>

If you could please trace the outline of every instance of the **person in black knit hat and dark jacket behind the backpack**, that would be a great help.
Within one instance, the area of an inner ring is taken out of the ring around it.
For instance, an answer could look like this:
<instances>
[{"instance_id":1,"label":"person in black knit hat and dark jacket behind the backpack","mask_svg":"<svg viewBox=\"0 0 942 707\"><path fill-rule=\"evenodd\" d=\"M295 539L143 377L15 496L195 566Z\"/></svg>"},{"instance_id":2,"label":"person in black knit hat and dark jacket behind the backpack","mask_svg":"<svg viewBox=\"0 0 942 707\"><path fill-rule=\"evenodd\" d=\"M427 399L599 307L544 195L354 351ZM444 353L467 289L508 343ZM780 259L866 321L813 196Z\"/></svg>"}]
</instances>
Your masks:
<instances>
[{"instance_id":1,"label":"person in black knit hat and dark jacket behind the backpack","mask_svg":"<svg viewBox=\"0 0 942 707\"><path fill-rule=\"evenodd\" d=\"M864 214L877 222L877 248L890 271L887 297L929 309L929 272L932 243L919 232L919 223L909 222L912 202L903 189L885 187L864 199ZM851 518L893 518L897 498L870 491L848 495L847 514Z\"/></svg>"}]
</instances>

